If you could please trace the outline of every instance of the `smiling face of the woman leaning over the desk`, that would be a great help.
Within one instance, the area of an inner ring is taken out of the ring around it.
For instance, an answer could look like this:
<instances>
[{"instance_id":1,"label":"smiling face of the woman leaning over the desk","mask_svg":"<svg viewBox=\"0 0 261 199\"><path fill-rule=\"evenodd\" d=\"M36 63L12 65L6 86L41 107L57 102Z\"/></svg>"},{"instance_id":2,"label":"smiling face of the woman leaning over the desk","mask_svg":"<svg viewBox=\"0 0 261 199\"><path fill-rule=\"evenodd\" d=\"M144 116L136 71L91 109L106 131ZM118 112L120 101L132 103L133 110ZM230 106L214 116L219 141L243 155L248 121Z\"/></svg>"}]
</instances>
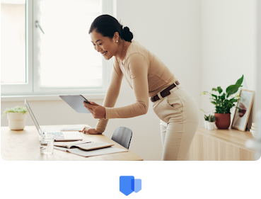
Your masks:
<instances>
[{"instance_id":1,"label":"smiling face of the woman leaning over the desk","mask_svg":"<svg viewBox=\"0 0 261 199\"><path fill-rule=\"evenodd\" d=\"M90 33L91 42L93 47L97 52L100 52L101 55L107 60L115 56L117 52L117 34L114 38L110 39L108 37L103 37L100 33L97 33L95 30Z\"/></svg>"}]
</instances>

